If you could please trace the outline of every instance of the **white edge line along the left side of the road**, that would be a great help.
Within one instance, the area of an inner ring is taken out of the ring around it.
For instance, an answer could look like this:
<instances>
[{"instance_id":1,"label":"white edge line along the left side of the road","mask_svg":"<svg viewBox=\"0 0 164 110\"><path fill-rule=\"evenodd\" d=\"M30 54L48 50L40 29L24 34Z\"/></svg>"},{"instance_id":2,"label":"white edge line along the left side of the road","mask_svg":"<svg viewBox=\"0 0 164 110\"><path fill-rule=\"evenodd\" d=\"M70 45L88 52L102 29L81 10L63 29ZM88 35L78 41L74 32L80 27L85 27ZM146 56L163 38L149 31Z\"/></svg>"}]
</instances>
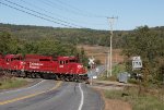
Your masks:
<instances>
[{"instance_id":1,"label":"white edge line along the left side of the road","mask_svg":"<svg viewBox=\"0 0 164 110\"><path fill-rule=\"evenodd\" d=\"M8 91L3 91L3 93L0 93L1 94L8 94L8 93L14 93L14 91L22 91L22 90L25 90L25 89L30 89L30 88L33 88L33 87L36 87L37 85L42 84L43 82L45 82L46 80L43 80L40 82L38 82L37 84L33 85L33 86L30 86L30 87L26 87L26 88L21 88L21 89L14 89L14 90L8 90Z\"/></svg>"}]
</instances>

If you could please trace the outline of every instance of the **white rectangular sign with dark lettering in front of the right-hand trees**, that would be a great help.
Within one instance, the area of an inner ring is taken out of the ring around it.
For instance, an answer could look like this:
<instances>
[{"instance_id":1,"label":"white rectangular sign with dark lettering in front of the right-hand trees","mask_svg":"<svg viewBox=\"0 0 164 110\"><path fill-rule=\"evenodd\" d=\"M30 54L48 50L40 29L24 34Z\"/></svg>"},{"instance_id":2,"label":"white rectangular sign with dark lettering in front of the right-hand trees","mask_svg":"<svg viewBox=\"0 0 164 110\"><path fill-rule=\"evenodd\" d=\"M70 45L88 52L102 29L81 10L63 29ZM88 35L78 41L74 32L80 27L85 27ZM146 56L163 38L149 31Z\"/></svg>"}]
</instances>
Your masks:
<instances>
[{"instance_id":1,"label":"white rectangular sign with dark lettering in front of the right-hand trees","mask_svg":"<svg viewBox=\"0 0 164 110\"><path fill-rule=\"evenodd\" d=\"M132 69L141 69L142 68L142 60L140 57L132 57Z\"/></svg>"}]
</instances>

